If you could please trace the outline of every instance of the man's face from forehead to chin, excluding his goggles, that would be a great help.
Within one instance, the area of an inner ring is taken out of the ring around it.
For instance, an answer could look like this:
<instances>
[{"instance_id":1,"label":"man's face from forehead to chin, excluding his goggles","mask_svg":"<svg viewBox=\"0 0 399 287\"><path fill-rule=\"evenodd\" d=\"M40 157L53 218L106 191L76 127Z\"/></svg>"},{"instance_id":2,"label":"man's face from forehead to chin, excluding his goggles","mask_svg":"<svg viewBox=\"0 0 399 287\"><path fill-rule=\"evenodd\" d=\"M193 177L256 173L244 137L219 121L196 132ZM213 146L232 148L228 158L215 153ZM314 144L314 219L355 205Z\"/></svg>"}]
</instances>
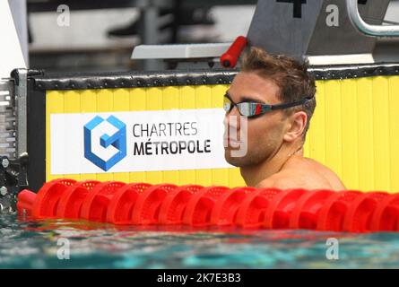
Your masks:
<instances>
[{"instance_id":1,"label":"man's face from forehead to chin, excluding his goggles","mask_svg":"<svg viewBox=\"0 0 399 287\"><path fill-rule=\"evenodd\" d=\"M277 98L278 92L279 87L271 80L250 72L237 74L228 91L231 100L235 103L246 100L265 104L281 103L281 100ZM240 138L243 120L247 120L247 136ZM240 116L239 110L234 107L226 115L224 121L226 124L224 156L226 161L236 167L252 166L273 158L282 146L284 125L287 122L282 110L269 111L260 117L247 118ZM228 131L231 128L237 131L236 135L229 135ZM233 141L237 139L238 143ZM237 157L232 154L232 151L242 148L243 144L247 144L247 153L244 156Z\"/></svg>"}]
</instances>

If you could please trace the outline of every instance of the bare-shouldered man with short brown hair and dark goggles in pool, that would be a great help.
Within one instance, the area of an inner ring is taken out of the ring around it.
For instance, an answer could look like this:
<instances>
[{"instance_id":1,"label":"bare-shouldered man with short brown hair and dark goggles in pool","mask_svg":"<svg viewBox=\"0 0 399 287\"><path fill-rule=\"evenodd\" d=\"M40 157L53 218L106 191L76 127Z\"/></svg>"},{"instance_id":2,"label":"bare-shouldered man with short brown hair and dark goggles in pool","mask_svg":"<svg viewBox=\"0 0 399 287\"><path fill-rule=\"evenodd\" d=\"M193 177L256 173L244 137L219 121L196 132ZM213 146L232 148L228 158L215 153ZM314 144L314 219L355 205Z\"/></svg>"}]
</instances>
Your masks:
<instances>
[{"instance_id":1,"label":"bare-shouldered man with short brown hair and dark goggles in pool","mask_svg":"<svg viewBox=\"0 0 399 287\"><path fill-rule=\"evenodd\" d=\"M261 48L250 48L244 56L223 108L225 158L239 167L247 186L346 189L333 170L303 156L315 94L306 64ZM240 136L241 120L247 121L247 136ZM230 136L231 129L236 135ZM243 144L247 152L234 156Z\"/></svg>"}]
</instances>

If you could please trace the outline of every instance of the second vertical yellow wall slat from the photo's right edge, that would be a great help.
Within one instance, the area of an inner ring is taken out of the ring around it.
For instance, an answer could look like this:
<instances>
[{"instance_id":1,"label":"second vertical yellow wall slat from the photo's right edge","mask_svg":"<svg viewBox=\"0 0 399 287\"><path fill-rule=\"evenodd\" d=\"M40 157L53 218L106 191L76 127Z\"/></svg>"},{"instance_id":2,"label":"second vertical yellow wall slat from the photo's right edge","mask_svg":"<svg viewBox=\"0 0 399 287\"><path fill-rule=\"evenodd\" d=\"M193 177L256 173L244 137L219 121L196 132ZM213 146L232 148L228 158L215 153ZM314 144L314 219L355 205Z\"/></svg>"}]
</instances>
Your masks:
<instances>
[{"instance_id":1,"label":"second vertical yellow wall slat from the photo's right edge","mask_svg":"<svg viewBox=\"0 0 399 287\"><path fill-rule=\"evenodd\" d=\"M374 120L374 184L381 190L391 189L389 156L389 97L388 79L376 77L373 80Z\"/></svg>"}]
</instances>

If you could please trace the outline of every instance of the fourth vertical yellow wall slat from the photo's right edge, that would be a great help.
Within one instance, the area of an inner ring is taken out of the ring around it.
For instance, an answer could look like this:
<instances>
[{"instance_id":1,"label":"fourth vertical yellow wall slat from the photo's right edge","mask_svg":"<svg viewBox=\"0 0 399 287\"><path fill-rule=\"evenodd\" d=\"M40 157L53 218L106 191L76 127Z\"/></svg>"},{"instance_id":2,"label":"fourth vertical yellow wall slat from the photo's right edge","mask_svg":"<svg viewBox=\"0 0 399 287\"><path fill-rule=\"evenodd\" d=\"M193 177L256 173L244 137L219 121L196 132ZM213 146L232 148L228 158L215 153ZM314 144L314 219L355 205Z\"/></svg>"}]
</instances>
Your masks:
<instances>
[{"instance_id":1,"label":"fourth vertical yellow wall slat from the photo's right edge","mask_svg":"<svg viewBox=\"0 0 399 287\"><path fill-rule=\"evenodd\" d=\"M342 91L342 141L343 141L343 175L345 187L353 189L359 186L358 161L358 93L357 80L341 81Z\"/></svg>"}]
</instances>

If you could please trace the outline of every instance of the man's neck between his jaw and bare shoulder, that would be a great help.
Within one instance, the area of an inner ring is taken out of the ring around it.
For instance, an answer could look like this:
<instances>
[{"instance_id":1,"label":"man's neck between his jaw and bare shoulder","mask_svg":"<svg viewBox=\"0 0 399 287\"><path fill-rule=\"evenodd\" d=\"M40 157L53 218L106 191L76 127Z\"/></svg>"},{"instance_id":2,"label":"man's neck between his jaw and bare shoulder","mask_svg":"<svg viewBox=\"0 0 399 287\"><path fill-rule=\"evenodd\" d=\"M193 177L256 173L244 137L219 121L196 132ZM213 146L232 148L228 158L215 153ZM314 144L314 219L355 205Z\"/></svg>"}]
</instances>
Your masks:
<instances>
[{"instance_id":1,"label":"man's neck between his jaw and bare shoulder","mask_svg":"<svg viewBox=\"0 0 399 287\"><path fill-rule=\"evenodd\" d=\"M265 178L269 178L282 170L283 166L293 155L303 156L302 144L291 144L290 146L283 144L279 151L266 161L262 161L253 166L240 168L241 176L244 178L248 187L256 187L256 185Z\"/></svg>"}]
</instances>

